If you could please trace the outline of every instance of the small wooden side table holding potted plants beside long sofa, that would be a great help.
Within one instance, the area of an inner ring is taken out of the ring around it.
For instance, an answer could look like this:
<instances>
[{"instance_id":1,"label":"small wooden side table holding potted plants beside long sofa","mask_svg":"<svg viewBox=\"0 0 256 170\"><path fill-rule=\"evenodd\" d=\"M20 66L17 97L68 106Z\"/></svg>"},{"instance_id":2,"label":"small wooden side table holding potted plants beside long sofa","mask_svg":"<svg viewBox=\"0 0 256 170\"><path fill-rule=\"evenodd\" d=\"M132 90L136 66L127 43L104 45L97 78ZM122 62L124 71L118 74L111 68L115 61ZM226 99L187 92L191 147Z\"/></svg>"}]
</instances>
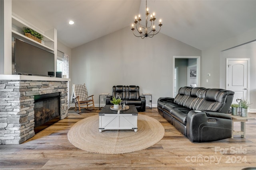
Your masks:
<instances>
[{"instance_id":1,"label":"small wooden side table holding potted plants beside long sofa","mask_svg":"<svg viewBox=\"0 0 256 170\"><path fill-rule=\"evenodd\" d=\"M232 137L234 137L234 135L241 135L241 137L246 138L246 131L245 131L245 123L246 121L248 121L248 119L253 119L251 117L242 117L242 116L234 116L234 115L230 115L232 117ZM234 131L234 122L241 122L241 131Z\"/></svg>"}]
</instances>

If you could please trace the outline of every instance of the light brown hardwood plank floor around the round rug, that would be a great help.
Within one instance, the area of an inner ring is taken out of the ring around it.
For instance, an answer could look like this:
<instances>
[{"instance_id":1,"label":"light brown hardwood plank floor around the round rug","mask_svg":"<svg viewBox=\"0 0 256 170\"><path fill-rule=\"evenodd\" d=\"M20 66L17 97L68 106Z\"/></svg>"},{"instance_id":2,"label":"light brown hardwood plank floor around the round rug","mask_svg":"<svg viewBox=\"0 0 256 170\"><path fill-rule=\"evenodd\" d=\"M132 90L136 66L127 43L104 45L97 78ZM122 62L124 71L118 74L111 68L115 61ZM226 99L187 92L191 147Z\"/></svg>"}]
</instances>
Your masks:
<instances>
[{"instance_id":1,"label":"light brown hardwood plank floor around the round rug","mask_svg":"<svg viewBox=\"0 0 256 170\"><path fill-rule=\"evenodd\" d=\"M256 167L256 119L246 122L246 139L192 143L159 115L156 108L140 112L160 121L165 129L156 145L126 154L96 154L74 147L67 138L77 121L98 114L99 110L75 113L44 129L20 145L0 145L0 169L164 169L164 170L241 170ZM248 113L256 118L256 113ZM234 130L240 129L235 123ZM201 158L201 159L200 159Z\"/></svg>"}]
</instances>

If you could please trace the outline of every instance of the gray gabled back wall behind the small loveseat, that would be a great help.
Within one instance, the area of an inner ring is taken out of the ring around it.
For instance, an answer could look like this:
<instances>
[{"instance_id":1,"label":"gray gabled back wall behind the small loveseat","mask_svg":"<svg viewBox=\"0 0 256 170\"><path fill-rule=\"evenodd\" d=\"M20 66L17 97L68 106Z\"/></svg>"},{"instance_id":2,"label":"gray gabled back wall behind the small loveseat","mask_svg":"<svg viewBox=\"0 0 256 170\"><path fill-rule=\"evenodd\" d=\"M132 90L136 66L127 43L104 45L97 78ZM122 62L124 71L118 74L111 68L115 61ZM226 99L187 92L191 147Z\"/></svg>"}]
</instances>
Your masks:
<instances>
[{"instance_id":1,"label":"gray gabled back wall behind the small loveseat","mask_svg":"<svg viewBox=\"0 0 256 170\"><path fill-rule=\"evenodd\" d=\"M86 83L96 104L114 85L138 85L156 106L159 97L172 96L173 56L201 56L201 50L161 33L141 39L125 27L72 49L71 83Z\"/></svg>"}]
</instances>

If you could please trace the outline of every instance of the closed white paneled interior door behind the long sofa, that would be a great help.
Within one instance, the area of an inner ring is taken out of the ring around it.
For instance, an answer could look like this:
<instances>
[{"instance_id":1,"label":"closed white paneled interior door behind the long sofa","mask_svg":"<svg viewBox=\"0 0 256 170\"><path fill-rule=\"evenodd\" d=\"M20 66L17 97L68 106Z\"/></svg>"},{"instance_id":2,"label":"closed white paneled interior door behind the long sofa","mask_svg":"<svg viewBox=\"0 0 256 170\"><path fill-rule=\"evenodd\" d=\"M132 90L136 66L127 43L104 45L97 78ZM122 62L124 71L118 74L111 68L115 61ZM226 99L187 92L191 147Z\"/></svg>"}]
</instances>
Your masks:
<instances>
[{"instance_id":1,"label":"closed white paneled interior door behind the long sofa","mask_svg":"<svg viewBox=\"0 0 256 170\"><path fill-rule=\"evenodd\" d=\"M227 59L226 74L226 89L235 92L232 103L237 103L237 98L249 102L250 59Z\"/></svg>"}]
</instances>

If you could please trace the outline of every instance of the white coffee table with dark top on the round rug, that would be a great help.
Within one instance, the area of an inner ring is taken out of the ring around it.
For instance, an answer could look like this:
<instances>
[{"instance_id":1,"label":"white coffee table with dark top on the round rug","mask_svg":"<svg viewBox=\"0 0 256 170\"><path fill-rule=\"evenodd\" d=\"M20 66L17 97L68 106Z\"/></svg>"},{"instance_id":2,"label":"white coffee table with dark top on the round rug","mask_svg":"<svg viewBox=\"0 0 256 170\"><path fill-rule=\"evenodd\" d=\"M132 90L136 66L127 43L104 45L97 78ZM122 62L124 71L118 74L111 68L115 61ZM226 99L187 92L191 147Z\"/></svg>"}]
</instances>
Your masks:
<instances>
[{"instance_id":1,"label":"white coffee table with dark top on the round rug","mask_svg":"<svg viewBox=\"0 0 256 170\"><path fill-rule=\"evenodd\" d=\"M138 111L134 105L129 105L129 109L125 111L111 110L112 105L106 105L99 112L99 131L103 130L126 130L132 129L138 131L137 118Z\"/></svg>"}]
</instances>

